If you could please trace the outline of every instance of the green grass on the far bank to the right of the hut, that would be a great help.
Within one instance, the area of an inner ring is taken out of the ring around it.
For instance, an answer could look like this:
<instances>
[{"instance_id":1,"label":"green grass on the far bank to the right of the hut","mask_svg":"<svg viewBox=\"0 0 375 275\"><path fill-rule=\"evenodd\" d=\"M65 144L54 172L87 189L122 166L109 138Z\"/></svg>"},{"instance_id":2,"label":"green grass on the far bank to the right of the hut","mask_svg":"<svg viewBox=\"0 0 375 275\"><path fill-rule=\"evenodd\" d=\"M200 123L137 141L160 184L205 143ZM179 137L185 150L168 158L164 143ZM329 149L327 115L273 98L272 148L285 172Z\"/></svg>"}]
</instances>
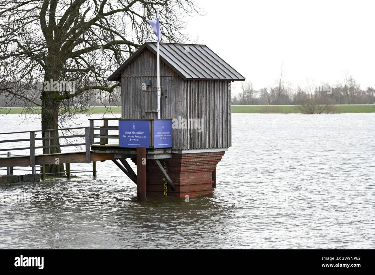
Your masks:
<instances>
[{"instance_id":1,"label":"green grass on the far bank to the right of the hut","mask_svg":"<svg viewBox=\"0 0 375 275\"><path fill-rule=\"evenodd\" d=\"M375 105L336 105L333 113L375 113ZM298 106L232 106L232 113L301 113Z\"/></svg>"}]
</instances>

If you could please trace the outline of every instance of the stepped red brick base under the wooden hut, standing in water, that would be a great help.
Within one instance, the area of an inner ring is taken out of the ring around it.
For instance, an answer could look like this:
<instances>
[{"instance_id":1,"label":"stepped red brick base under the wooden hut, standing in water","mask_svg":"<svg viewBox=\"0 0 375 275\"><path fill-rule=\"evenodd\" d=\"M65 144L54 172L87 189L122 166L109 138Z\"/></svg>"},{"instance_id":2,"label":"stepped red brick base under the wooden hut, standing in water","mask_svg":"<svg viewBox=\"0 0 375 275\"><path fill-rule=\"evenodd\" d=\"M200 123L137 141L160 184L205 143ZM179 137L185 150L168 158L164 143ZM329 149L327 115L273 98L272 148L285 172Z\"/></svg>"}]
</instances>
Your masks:
<instances>
[{"instance_id":1,"label":"stepped red brick base under the wooden hut, standing in water","mask_svg":"<svg viewBox=\"0 0 375 275\"><path fill-rule=\"evenodd\" d=\"M225 152L172 154L170 159L161 159L160 163L176 186L168 185L168 195L175 197L197 197L212 193L212 171ZM136 163L136 158L132 158ZM164 195L165 179L156 163L148 159L146 164L146 184L148 196Z\"/></svg>"}]
</instances>

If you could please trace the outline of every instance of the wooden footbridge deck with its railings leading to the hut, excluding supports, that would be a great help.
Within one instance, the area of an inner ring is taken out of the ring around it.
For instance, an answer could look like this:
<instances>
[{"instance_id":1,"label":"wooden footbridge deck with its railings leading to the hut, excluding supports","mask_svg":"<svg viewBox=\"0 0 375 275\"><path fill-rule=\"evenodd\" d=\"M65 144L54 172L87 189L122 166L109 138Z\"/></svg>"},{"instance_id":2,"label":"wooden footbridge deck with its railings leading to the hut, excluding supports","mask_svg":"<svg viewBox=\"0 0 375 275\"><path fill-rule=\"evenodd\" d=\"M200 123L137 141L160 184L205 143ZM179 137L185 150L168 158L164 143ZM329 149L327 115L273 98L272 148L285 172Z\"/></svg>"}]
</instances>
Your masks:
<instances>
[{"instance_id":1,"label":"wooden footbridge deck with its railings leading to the hut, excluding supports","mask_svg":"<svg viewBox=\"0 0 375 275\"><path fill-rule=\"evenodd\" d=\"M103 126L94 126L94 122L98 120L103 120ZM22 132L11 132L11 133L0 133L3 135L21 135L25 134L26 137L30 138L17 138L13 140L0 140L0 144L4 143L19 143L29 142L29 147L8 147L8 149L3 149L0 147L0 151L17 151L17 150L29 150L29 155L24 156L10 156L0 158L0 167L14 167L14 166L31 166L35 165L48 165L55 164L58 159L60 164L68 163L90 163L96 161L115 161L116 159L126 159L136 156L136 148L120 148L118 144L108 144L108 139L117 138L116 135L108 135L108 131L117 131L118 126L108 126L108 120L111 119L89 119L89 127L76 127L76 128L65 128L58 129L58 131L71 131L71 130L84 130L83 134L69 134L62 135L60 137L50 137L49 133L52 130L37 130L37 131L22 131ZM118 120L118 119L113 119ZM95 131L100 131L95 133ZM35 138L36 132L44 132L43 137ZM49 141L54 138L59 139L69 139L69 138L81 138L81 142L75 141L66 144L60 144L57 146L50 146ZM100 139L99 142L95 142L95 139ZM45 141L45 144L41 146L36 146L36 141ZM49 153L49 148L51 147L67 147L67 146L77 146L85 147L83 152L64 152L64 153ZM43 155L36 155L35 149L45 149L46 153ZM146 150L147 159L165 159L171 158L171 149L147 149Z\"/></svg>"}]
</instances>

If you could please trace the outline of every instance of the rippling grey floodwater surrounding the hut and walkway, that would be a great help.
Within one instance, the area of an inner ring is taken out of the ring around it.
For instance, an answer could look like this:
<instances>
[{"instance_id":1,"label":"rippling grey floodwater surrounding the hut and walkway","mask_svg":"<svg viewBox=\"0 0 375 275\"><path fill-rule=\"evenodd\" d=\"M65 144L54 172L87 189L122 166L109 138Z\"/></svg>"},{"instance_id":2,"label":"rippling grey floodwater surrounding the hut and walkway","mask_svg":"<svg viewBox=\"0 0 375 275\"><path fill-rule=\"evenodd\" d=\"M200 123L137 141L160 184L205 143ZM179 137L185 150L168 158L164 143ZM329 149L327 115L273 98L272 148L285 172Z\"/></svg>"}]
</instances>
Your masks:
<instances>
[{"instance_id":1,"label":"rippling grey floodwater surrounding the hut and walkway","mask_svg":"<svg viewBox=\"0 0 375 275\"><path fill-rule=\"evenodd\" d=\"M21 120L1 117L3 131L40 129ZM232 127L212 196L138 203L108 161L96 178L0 187L0 248L375 248L374 114L233 114Z\"/></svg>"}]
</instances>

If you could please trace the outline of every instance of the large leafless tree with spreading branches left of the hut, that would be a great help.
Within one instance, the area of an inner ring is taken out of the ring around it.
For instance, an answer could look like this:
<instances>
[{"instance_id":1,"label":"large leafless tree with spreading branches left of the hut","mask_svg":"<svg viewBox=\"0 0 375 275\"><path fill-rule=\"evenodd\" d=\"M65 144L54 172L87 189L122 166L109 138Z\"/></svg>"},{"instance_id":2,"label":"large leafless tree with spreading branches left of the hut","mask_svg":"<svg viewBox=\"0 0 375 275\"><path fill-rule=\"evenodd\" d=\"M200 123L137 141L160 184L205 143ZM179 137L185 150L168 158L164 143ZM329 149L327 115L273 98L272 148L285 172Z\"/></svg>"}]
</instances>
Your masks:
<instances>
[{"instance_id":1,"label":"large leafless tree with spreading branches left of the hut","mask_svg":"<svg viewBox=\"0 0 375 275\"><path fill-rule=\"evenodd\" d=\"M165 41L189 39L182 33L183 19L201 12L192 0L0 0L0 95L5 106L16 101L38 106L42 129L57 129L90 109L95 90L111 97L120 83L107 82L110 71L146 40L154 40L145 21L155 18L153 5L161 7ZM58 139L51 140L57 144ZM51 153L59 152L51 148Z\"/></svg>"}]
</instances>

